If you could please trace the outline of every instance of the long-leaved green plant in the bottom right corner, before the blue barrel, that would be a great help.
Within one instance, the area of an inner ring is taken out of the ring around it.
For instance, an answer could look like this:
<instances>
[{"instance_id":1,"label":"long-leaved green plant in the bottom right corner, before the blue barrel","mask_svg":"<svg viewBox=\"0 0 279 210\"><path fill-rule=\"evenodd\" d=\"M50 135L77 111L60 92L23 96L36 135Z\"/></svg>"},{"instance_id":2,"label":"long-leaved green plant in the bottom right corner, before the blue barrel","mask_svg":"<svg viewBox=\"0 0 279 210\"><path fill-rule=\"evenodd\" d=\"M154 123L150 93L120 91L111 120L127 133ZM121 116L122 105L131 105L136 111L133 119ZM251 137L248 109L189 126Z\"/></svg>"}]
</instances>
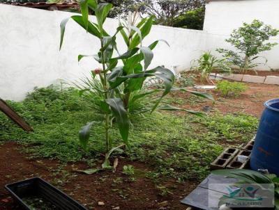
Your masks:
<instances>
[{"instance_id":1,"label":"long-leaved green plant in the bottom right corner, before the blue barrel","mask_svg":"<svg viewBox=\"0 0 279 210\"><path fill-rule=\"evenodd\" d=\"M236 184L257 184L257 187L270 191L266 186L262 184L268 184L268 186L274 186L273 191L275 195L274 205L276 210L279 209L279 178L273 174L262 174L254 170L245 169L232 169L232 170L215 170L212 172L214 175L221 175L225 177L231 177L234 179L239 179ZM234 203L237 200L232 200L226 197L221 197L219 205L225 204L226 202Z\"/></svg>"}]
</instances>

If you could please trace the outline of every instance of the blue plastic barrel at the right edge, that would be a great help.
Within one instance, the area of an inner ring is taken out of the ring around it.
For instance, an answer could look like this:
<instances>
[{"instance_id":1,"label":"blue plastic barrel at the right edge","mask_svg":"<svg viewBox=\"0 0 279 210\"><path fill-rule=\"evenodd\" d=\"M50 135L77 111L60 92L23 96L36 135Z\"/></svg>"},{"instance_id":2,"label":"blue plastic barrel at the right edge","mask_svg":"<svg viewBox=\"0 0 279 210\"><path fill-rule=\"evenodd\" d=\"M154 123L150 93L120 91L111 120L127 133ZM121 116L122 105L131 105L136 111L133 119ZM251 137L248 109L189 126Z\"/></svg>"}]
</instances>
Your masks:
<instances>
[{"instance_id":1,"label":"blue plastic barrel at the right edge","mask_svg":"<svg viewBox=\"0 0 279 210\"><path fill-rule=\"evenodd\" d=\"M252 170L267 169L279 176L279 99L269 100L264 106L250 167Z\"/></svg>"}]
</instances>

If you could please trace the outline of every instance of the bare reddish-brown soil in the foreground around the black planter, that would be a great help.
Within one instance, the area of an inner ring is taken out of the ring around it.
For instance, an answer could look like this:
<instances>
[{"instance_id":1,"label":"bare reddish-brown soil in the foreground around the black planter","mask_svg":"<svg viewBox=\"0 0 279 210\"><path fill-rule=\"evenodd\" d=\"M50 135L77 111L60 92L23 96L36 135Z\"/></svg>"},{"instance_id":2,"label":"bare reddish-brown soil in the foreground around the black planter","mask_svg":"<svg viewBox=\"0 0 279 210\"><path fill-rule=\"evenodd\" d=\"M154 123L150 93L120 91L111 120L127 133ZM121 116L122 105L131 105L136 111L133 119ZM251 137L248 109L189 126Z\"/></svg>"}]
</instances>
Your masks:
<instances>
[{"instance_id":1,"label":"bare reddish-brown soil in the foreground around the black planter","mask_svg":"<svg viewBox=\"0 0 279 210\"><path fill-rule=\"evenodd\" d=\"M133 165L135 170L146 172L148 163L129 161L125 157L119 159L116 172L105 171L93 175L83 175L73 171L75 168L86 169L85 163L68 164L60 171L57 161L48 159L27 159L27 154L20 152L21 145L5 143L0 146L0 209L22 210L4 189L6 184L31 177L42 177L46 181L61 188L88 209L186 209L180 200L193 191L197 181L176 181L155 183L143 175L131 181L122 173L123 165ZM59 182L61 181L61 182ZM164 186L168 192L162 195ZM98 202L103 202L99 206Z\"/></svg>"}]
</instances>

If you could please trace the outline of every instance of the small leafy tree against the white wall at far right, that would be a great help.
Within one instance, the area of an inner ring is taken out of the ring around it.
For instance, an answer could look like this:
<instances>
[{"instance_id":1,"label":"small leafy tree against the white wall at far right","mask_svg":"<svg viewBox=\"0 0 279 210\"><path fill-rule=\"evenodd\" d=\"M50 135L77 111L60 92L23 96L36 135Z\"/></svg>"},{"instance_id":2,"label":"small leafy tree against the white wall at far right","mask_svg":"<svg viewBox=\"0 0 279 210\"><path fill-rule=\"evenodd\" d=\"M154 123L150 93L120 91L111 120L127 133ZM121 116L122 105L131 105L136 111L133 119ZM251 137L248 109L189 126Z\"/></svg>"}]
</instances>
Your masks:
<instances>
[{"instance_id":1,"label":"small leafy tree against the white wall at far right","mask_svg":"<svg viewBox=\"0 0 279 210\"><path fill-rule=\"evenodd\" d=\"M234 29L231 37L226 40L236 51L222 48L217 49L217 51L223 54L233 65L239 67L239 70L243 73L260 64L254 63L259 58L257 55L260 52L271 50L278 44L266 42L278 33L278 29L273 29L271 26L255 19L251 24L243 23L243 26L239 29Z\"/></svg>"}]
</instances>

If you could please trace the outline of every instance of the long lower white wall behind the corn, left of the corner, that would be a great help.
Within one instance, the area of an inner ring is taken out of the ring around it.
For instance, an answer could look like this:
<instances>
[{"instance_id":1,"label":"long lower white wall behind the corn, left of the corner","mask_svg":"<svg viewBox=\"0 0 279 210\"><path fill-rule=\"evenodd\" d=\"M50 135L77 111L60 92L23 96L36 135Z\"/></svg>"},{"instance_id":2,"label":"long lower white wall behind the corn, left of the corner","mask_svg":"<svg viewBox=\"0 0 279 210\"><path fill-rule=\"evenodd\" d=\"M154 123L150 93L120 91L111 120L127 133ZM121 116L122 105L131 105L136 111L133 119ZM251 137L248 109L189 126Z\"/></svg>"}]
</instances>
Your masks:
<instances>
[{"instance_id":1,"label":"long lower white wall behind the corn, left of the corner","mask_svg":"<svg viewBox=\"0 0 279 210\"><path fill-rule=\"evenodd\" d=\"M0 4L1 98L22 100L36 86L48 86L56 79L75 81L98 67L89 58L77 63L79 54L96 54L100 45L98 39L73 21L66 26L64 45L59 51L59 24L70 15L74 14ZM116 19L107 19L105 29L112 34L117 26ZM171 47L161 42L152 65L186 68L204 49L205 36L202 31L153 26L144 44L167 40ZM124 43L119 41L119 49L125 52Z\"/></svg>"}]
</instances>

